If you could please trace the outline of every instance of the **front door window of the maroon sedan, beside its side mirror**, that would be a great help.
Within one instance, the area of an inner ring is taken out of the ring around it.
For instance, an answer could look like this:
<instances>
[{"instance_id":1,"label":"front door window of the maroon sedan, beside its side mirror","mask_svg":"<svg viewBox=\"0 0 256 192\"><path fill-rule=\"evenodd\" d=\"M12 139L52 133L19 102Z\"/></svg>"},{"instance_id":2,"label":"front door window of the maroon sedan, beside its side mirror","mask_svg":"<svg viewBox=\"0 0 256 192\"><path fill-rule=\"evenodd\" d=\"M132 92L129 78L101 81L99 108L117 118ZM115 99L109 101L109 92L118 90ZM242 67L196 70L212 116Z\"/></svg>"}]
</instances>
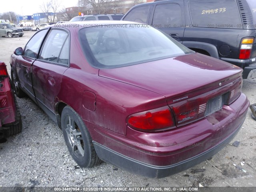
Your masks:
<instances>
[{"instance_id":1,"label":"front door window of the maroon sedan, beside its side mirror","mask_svg":"<svg viewBox=\"0 0 256 192\"><path fill-rule=\"evenodd\" d=\"M28 42L24 49L24 56L28 56L31 58L37 58L38 51L44 36L46 35L48 30L42 30L37 32Z\"/></svg>"}]
</instances>

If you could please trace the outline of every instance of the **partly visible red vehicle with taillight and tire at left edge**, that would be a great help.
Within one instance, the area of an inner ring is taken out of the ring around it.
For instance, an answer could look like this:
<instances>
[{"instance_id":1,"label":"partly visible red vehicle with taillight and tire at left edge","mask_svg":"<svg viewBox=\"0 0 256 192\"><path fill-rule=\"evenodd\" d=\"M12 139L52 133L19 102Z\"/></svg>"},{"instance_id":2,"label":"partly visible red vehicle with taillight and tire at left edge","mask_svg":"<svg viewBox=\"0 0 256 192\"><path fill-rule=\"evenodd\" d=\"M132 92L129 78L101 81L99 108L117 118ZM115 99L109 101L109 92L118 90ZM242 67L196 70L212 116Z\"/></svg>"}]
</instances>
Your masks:
<instances>
[{"instance_id":1,"label":"partly visible red vehicle with taillight and tire at left edge","mask_svg":"<svg viewBox=\"0 0 256 192\"><path fill-rule=\"evenodd\" d=\"M0 142L8 136L20 133L21 130L20 110L11 88L10 77L6 64L0 61Z\"/></svg>"}]
</instances>

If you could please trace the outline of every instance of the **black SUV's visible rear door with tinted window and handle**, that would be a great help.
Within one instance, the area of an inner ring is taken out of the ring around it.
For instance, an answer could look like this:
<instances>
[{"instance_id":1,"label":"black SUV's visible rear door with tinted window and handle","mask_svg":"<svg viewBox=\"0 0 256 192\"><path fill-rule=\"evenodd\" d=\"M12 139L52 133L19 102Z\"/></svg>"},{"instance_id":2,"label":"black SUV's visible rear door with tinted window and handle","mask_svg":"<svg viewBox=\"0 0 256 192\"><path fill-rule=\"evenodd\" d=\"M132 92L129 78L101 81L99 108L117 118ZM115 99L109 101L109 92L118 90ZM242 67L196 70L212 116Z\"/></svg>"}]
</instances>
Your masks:
<instances>
[{"instance_id":1,"label":"black SUV's visible rear door with tinted window and handle","mask_svg":"<svg viewBox=\"0 0 256 192\"><path fill-rule=\"evenodd\" d=\"M185 30L183 1L156 4L151 24L182 43Z\"/></svg>"}]
</instances>

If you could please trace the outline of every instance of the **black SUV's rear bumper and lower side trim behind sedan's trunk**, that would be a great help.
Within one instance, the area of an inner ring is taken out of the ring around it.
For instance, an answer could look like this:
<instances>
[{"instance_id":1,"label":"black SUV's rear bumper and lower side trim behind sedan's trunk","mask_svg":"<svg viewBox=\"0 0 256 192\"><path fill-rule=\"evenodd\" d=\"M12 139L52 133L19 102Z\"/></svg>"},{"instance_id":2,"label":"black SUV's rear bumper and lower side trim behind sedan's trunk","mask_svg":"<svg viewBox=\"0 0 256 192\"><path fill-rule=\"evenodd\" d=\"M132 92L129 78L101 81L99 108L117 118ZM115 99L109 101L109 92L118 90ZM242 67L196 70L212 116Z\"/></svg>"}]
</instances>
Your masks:
<instances>
[{"instance_id":1,"label":"black SUV's rear bumper and lower side trim behind sedan's trunk","mask_svg":"<svg viewBox=\"0 0 256 192\"><path fill-rule=\"evenodd\" d=\"M240 68L242 68L243 79L256 78L256 63L250 64L250 59L240 60L240 59L230 59L230 58L220 58L223 61L234 64Z\"/></svg>"}]
</instances>

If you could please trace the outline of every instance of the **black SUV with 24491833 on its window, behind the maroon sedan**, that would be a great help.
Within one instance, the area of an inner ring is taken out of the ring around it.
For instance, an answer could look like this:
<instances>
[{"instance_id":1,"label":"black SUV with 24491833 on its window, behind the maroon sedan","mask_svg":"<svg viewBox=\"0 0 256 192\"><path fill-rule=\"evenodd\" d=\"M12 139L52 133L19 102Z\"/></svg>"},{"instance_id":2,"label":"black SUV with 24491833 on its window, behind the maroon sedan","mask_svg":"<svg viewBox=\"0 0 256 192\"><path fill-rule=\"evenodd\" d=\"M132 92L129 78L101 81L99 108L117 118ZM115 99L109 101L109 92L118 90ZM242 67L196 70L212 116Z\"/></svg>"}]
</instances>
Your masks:
<instances>
[{"instance_id":1,"label":"black SUV with 24491833 on its window, behind the maroon sedan","mask_svg":"<svg viewBox=\"0 0 256 192\"><path fill-rule=\"evenodd\" d=\"M150 24L188 48L244 69L256 78L255 0L156 0L122 18Z\"/></svg>"}]
</instances>

